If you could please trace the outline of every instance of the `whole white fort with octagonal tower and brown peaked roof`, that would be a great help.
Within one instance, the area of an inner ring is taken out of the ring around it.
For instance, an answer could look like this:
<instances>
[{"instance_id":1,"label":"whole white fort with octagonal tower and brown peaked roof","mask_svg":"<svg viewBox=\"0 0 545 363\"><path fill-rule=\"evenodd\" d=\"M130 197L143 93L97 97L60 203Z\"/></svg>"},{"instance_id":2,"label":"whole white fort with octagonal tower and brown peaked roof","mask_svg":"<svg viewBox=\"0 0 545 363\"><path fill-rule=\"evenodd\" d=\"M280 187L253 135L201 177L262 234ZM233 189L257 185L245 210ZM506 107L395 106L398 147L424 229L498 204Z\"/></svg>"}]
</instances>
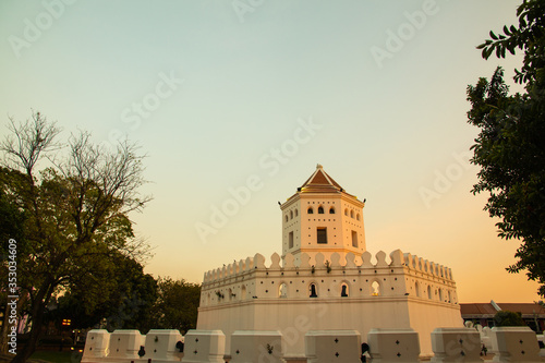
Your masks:
<instances>
[{"instance_id":1,"label":"whole white fort with octagonal tower and brown peaked roof","mask_svg":"<svg viewBox=\"0 0 545 363\"><path fill-rule=\"evenodd\" d=\"M283 355L305 356L311 330L412 328L423 355L435 328L462 327L456 283L443 265L365 249L364 203L322 166L281 204L282 255L256 254L205 273L197 329L278 330Z\"/></svg>"}]
</instances>

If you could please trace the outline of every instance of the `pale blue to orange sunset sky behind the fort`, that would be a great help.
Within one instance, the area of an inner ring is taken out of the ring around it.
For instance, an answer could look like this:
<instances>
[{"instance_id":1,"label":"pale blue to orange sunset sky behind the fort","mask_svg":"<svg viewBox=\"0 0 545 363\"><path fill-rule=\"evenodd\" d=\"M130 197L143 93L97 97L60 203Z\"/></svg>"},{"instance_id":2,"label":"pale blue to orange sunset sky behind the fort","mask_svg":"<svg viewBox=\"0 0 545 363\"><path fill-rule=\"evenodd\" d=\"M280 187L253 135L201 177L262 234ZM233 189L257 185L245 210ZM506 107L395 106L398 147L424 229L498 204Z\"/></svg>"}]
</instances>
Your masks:
<instances>
[{"instance_id":1,"label":"pale blue to orange sunset sky behind the fort","mask_svg":"<svg viewBox=\"0 0 545 363\"><path fill-rule=\"evenodd\" d=\"M366 198L372 254L449 266L461 302L532 302L537 285L505 270L517 241L470 192L465 100L520 66L475 49L520 2L4 0L0 136L34 109L64 140L137 142L154 199L132 218L156 277L281 252L278 202L320 164Z\"/></svg>"}]
</instances>

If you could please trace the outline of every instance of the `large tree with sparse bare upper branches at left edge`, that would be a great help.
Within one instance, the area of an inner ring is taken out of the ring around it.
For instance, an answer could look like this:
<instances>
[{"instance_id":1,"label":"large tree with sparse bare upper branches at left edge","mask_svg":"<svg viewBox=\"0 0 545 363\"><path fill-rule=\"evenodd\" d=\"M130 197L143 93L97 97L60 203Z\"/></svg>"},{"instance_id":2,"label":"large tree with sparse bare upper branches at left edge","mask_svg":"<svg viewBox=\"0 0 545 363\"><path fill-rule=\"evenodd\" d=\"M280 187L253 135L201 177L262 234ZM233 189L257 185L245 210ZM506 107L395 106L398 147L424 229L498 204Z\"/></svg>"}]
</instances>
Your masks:
<instances>
[{"instance_id":1,"label":"large tree with sparse bare upper branches at left edge","mask_svg":"<svg viewBox=\"0 0 545 363\"><path fill-rule=\"evenodd\" d=\"M143 166L134 145L108 150L81 133L59 154L60 131L39 112L26 122L11 120L9 129L11 134L0 144L8 161L0 170L0 225L14 221L2 233L21 239L17 292L29 301L32 328L14 362L24 362L57 293L75 293L85 299L88 311L119 302L116 294L126 289L112 276L120 263L132 259L140 265L147 252L147 244L133 233L129 213L140 210L148 198L138 194ZM45 159L52 166L38 169Z\"/></svg>"}]
</instances>

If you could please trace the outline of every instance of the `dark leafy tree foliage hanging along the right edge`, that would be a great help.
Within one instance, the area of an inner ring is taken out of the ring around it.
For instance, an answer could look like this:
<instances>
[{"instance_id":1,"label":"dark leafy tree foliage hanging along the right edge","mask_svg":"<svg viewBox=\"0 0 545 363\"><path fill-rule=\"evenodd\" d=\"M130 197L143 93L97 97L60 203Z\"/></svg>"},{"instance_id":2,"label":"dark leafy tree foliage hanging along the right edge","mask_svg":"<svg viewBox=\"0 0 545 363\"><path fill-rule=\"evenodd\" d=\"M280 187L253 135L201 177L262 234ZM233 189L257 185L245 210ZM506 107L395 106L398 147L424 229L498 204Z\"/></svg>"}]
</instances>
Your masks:
<instances>
[{"instance_id":1,"label":"dark leafy tree foliage hanging along the right edge","mask_svg":"<svg viewBox=\"0 0 545 363\"><path fill-rule=\"evenodd\" d=\"M477 47L484 58L523 50L514 81L526 92L509 95L501 68L468 86L469 123L481 129L472 146L471 161L481 167L473 193L488 192L485 210L500 218L499 235L521 241L508 270L525 270L545 297L545 0L524 1L518 15L518 26L491 32Z\"/></svg>"}]
</instances>

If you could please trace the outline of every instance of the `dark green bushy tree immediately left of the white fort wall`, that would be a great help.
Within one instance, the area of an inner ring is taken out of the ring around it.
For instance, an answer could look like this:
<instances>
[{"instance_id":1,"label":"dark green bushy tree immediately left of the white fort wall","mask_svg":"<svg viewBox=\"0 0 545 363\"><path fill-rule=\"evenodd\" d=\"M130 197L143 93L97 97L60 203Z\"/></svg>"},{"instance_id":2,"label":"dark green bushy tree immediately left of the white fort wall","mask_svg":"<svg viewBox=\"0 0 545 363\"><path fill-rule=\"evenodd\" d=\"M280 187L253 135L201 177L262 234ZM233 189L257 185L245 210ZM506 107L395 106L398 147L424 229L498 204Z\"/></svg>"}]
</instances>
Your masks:
<instances>
[{"instance_id":1,"label":"dark green bushy tree immediately left of the white fort wall","mask_svg":"<svg viewBox=\"0 0 545 363\"><path fill-rule=\"evenodd\" d=\"M159 278L158 300L155 307L154 327L178 329L183 334L195 329L201 299L201 286L184 279Z\"/></svg>"}]
</instances>

